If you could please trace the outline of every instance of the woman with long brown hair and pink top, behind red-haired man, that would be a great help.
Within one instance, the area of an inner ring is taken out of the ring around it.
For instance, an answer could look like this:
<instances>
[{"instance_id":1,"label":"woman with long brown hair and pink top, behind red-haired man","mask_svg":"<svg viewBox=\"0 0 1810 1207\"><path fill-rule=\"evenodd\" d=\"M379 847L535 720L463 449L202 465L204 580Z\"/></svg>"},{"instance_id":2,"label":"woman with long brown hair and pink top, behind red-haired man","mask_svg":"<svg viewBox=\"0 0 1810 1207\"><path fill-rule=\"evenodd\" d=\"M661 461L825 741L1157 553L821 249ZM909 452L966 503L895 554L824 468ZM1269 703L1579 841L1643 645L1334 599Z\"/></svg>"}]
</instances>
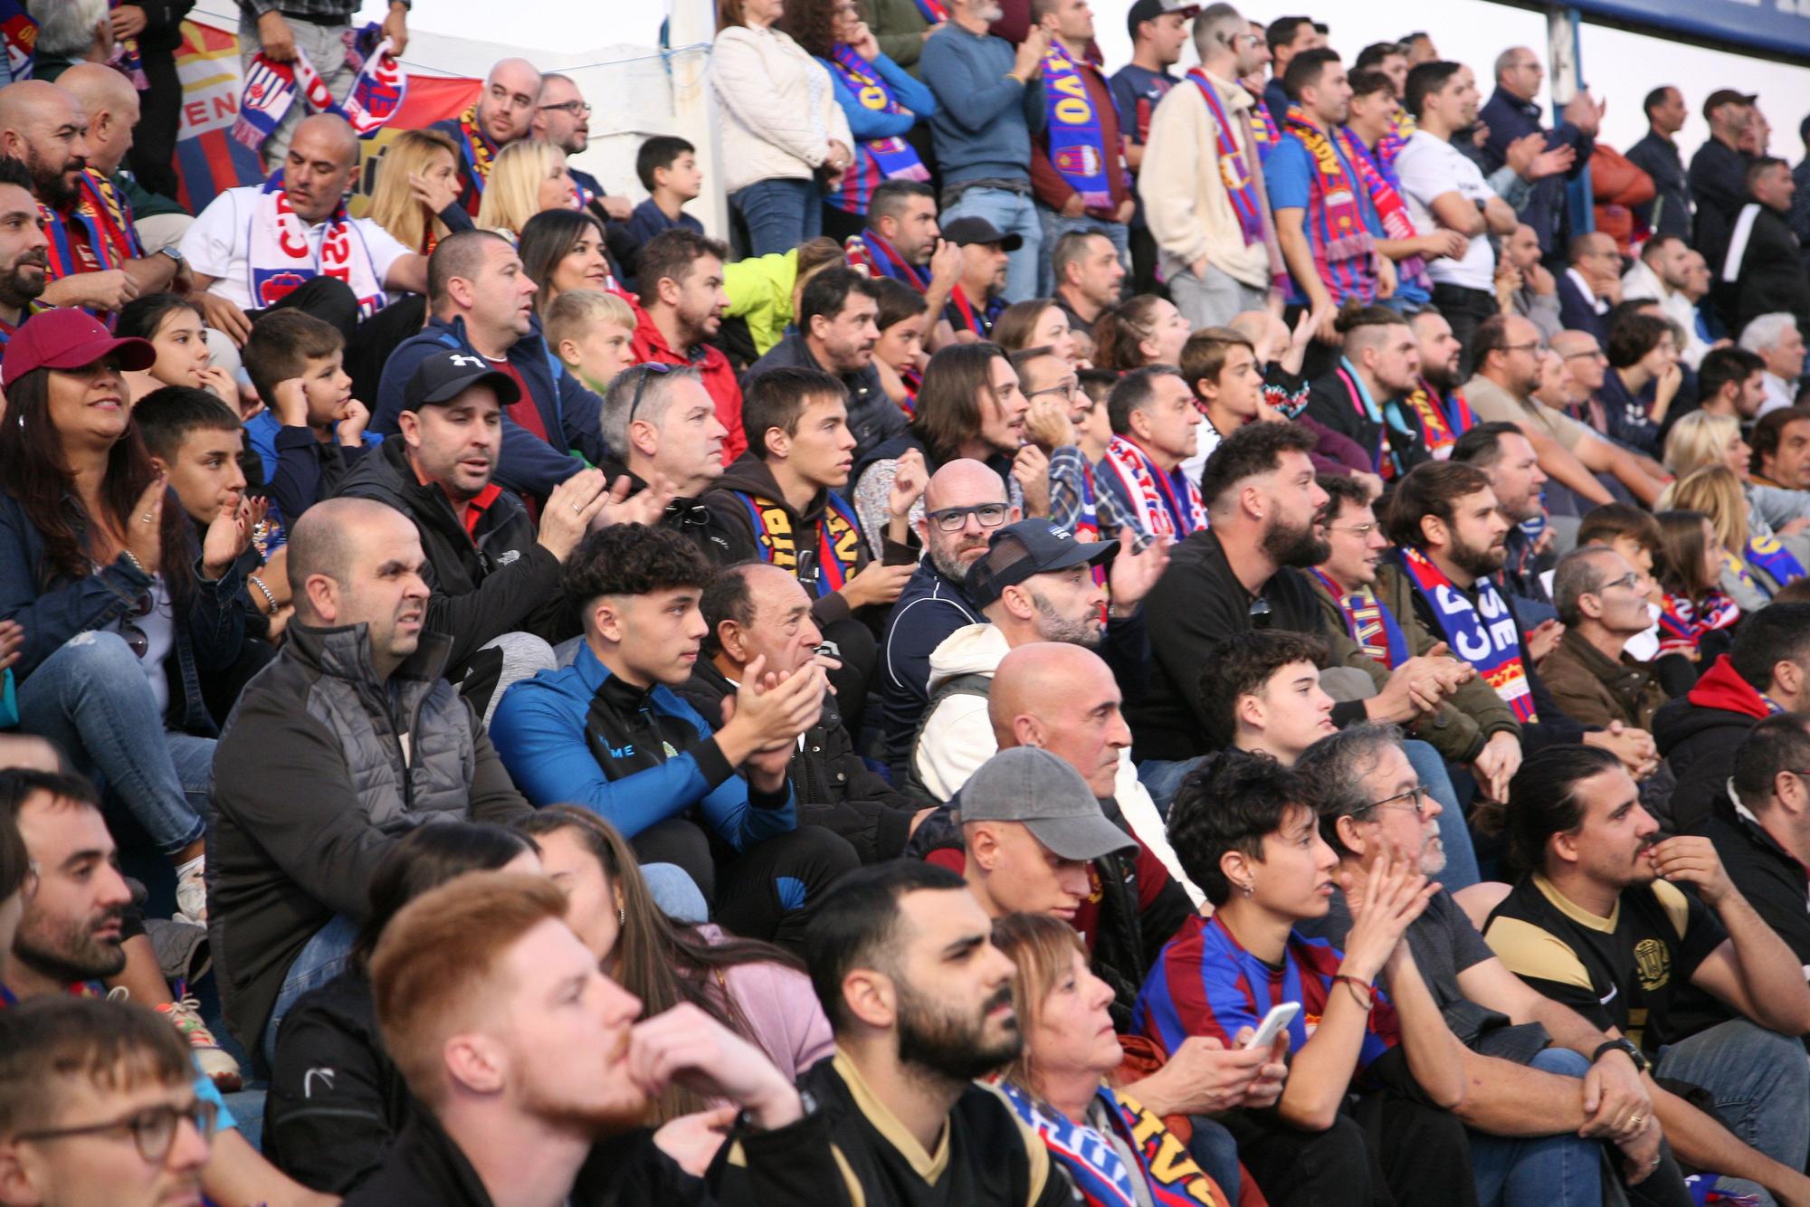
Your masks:
<instances>
[{"instance_id":1,"label":"woman with long brown hair and pink top, behind red-haired man","mask_svg":"<svg viewBox=\"0 0 1810 1207\"><path fill-rule=\"evenodd\" d=\"M800 963L767 943L668 917L614 825L577 805L548 805L518 829L534 838L547 874L570 898L567 925L603 972L641 999L643 1017L691 1003L766 1051L787 1080L834 1050ZM670 1086L646 1124L713 1106L720 1104Z\"/></svg>"}]
</instances>

